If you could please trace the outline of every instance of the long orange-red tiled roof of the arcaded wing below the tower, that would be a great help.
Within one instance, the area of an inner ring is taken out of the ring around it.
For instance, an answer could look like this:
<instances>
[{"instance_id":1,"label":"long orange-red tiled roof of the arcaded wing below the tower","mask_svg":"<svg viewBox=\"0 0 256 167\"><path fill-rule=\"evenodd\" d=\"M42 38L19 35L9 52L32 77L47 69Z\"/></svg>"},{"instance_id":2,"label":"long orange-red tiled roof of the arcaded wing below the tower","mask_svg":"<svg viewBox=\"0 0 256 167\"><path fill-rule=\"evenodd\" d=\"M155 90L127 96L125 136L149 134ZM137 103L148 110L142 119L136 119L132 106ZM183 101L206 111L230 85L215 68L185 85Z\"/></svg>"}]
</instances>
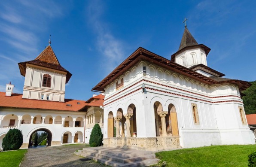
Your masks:
<instances>
[{"instance_id":1,"label":"long orange-red tiled roof of the arcaded wing below the tower","mask_svg":"<svg viewBox=\"0 0 256 167\"><path fill-rule=\"evenodd\" d=\"M77 104L79 102L80 104ZM0 107L23 108L23 109L49 109L61 111L79 111L87 103L83 100L65 99L65 102L22 99L22 94L12 94L5 96L5 92L0 92ZM72 106L66 106L71 104Z\"/></svg>"}]
</instances>

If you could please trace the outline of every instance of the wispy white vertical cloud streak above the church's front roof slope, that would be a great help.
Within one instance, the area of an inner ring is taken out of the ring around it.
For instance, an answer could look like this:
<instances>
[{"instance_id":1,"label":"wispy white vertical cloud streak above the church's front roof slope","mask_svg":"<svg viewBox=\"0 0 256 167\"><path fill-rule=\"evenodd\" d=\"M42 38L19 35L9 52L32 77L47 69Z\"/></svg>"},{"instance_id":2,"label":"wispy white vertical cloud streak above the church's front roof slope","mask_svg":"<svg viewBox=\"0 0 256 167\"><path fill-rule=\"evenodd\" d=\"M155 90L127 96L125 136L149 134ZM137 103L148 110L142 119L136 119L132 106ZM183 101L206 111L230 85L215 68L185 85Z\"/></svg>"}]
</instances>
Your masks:
<instances>
[{"instance_id":1,"label":"wispy white vertical cloud streak above the church's front roof slope","mask_svg":"<svg viewBox=\"0 0 256 167\"><path fill-rule=\"evenodd\" d=\"M105 63L102 65L109 73L124 59L125 53L122 40L116 38L109 30L108 23L101 20L104 7L104 1L91 1L88 5L88 20L97 35L98 50L103 54Z\"/></svg>"}]
</instances>

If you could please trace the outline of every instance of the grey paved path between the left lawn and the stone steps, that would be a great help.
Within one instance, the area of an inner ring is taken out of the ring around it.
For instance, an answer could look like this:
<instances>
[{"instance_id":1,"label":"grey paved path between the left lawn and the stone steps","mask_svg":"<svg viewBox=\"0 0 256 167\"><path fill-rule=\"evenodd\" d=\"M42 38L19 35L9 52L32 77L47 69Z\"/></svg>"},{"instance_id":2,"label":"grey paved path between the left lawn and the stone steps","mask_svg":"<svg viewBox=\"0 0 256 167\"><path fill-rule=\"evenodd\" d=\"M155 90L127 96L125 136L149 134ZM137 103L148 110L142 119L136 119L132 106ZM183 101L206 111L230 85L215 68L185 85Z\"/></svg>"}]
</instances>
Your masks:
<instances>
[{"instance_id":1,"label":"grey paved path between the left lawn and the stone steps","mask_svg":"<svg viewBox=\"0 0 256 167\"><path fill-rule=\"evenodd\" d=\"M84 147L84 144L75 144L28 149L20 167L107 167L73 154Z\"/></svg>"}]
</instances>

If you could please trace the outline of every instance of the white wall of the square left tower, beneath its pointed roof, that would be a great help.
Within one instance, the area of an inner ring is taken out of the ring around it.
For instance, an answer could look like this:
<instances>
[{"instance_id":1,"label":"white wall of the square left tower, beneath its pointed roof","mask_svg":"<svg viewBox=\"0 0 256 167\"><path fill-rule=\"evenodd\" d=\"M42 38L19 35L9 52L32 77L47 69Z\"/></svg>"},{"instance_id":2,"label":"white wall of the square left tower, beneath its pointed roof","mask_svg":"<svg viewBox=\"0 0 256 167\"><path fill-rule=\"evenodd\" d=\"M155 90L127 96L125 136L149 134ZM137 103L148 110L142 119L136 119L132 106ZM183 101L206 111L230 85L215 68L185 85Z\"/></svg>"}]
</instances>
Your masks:
<instances>
[{"instance_id":1,"label":"white wall of the square left tower, beneath its pointed roof","mask_svg":"<svg viewBox=\"0 0 256 167\"><path fill-rule=\"evenodd\" d=\"M43 76L51 76L50 87L43 86ZM64 101L66 73L47 68L28 66L24 82L23 98ZM42 99L43 98L43 99ZM48 98L48 99L47 99Z\"/></svg>"}]
</instances>

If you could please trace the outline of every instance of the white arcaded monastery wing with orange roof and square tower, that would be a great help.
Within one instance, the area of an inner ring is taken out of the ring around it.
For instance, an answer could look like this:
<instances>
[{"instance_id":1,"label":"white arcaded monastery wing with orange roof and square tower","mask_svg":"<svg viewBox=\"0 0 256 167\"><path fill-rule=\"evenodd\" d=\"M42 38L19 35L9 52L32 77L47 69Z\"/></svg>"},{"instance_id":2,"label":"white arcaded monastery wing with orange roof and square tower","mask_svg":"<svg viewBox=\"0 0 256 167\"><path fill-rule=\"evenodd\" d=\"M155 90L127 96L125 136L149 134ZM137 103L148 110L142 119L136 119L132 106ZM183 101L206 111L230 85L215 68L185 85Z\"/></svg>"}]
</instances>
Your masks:
<instances>
[{"instance_id":1,"label":"white arcaded monastery wing with orange roof and square tower","mask_svg":"<svg viewBox=\"0 0 256 167\"><path fill-rule=\"evenodd\" d=\"M49 146L64 143L88 143L91 130L99 123L103 130L104 94L86 102L65 99L65 85L72 74L59 63L49 45L33 61L18 63L25 77L23 94L12 93L14 85L6 84L0 92L0 148L9 129L18 128L23 145L32 145L37 131L48 134Z\"/></svg>"}]
</instances>

